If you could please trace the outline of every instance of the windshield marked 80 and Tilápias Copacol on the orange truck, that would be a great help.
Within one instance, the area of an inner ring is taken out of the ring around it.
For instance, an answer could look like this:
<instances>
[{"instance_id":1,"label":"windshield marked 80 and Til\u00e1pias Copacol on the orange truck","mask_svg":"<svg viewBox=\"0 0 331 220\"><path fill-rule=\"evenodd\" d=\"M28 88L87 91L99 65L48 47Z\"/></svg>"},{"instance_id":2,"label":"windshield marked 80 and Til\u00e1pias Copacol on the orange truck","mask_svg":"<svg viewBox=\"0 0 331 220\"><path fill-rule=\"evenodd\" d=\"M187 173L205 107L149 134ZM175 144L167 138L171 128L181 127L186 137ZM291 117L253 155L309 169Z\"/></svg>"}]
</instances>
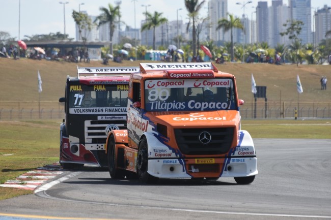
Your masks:
<instances>
[{"instance_id":1,"label":"windshield marked 80 and Til\u00e1pias Copacol on the orange truck","mask_svg":"<svg viewBox=\"0 0 331 220\"><path fill-rule=\"evenodd\" d=\"M231 78L145 81L146 111L235 110Z\"/></svg>"}]
</instances>

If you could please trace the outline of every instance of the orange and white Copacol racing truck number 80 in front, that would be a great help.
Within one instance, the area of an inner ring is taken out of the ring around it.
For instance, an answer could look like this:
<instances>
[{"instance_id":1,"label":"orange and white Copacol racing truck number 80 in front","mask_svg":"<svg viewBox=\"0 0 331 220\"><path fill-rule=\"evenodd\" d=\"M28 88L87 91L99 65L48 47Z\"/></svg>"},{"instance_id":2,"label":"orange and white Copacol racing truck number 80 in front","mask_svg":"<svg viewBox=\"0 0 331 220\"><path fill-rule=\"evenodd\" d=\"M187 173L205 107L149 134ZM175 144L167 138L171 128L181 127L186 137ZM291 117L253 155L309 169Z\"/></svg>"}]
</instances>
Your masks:
<instances>
[{"instance_id":1,"label":"orange and white Copacol racing truck number 80 in front","mask_svg":"<svg viewBox=\"0 0 331 220\"><path fill-rule=\"evenodd\" d=\"M127 130L109 132L112 178L202 180L258 174L251 135L240 129L236 78L210 62L142 63L130 75Z\"/></svg>"}]
</instances>

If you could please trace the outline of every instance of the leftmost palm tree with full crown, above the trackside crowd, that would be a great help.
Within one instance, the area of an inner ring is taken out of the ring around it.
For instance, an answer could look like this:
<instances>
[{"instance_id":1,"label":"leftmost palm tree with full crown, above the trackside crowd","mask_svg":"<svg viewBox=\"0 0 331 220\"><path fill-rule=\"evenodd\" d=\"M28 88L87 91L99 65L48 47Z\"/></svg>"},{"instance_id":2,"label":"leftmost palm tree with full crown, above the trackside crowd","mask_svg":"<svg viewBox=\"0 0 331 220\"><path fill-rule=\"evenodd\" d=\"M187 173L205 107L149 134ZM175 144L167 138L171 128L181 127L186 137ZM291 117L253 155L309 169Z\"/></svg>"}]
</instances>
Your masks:
<instances>
[{"instance_id":1,"label":"leftmost palm tree with full crown, above the trackside crowd","mask_svg":"<svg viewBox=\"0 0 331 220\"><path fill-rule=\"evenodd\" d=\"M113 35L116 26L117 18L121 17L120 5L114 7L112 4L108 4L108 8L100 7L102 13L96 17L94 22L98 22L98 27L102 24L109 22L109 36L110 36L110 53L113 54Z\"/></svg>"}]
</instances>

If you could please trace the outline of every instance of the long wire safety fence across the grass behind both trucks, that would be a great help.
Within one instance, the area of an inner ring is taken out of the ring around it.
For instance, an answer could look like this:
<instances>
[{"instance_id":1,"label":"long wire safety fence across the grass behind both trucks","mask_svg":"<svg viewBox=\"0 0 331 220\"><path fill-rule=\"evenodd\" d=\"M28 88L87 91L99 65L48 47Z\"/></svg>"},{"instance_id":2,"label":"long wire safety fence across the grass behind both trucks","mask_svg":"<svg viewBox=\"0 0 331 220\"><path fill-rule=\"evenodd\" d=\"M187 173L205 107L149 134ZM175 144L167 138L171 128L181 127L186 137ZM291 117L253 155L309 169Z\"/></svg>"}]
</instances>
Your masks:
<instances>
[{"instance_id":1,"label":"long wire safety fence across the grass behind both trucks","mask_svg":"<svg viewBox=\"0 0 331 220\"><path fill-rule=\"evenodd\" d=\"M240 114L242 119L331 118L331 103L245 102ZM63 118L63 103L0 101L0 120Z\"/></svg>"}]
</instances>

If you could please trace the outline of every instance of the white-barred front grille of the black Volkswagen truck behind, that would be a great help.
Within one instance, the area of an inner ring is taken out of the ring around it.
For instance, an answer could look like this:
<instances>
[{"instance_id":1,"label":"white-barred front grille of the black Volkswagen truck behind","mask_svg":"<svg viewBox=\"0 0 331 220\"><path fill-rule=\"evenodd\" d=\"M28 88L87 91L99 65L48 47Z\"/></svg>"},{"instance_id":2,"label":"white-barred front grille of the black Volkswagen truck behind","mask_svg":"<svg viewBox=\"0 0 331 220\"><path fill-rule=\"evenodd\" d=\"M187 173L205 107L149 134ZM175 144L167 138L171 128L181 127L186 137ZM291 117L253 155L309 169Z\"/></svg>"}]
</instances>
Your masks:
<instances>
[{"instance_id":1,"label":"white-barred front grille of the black Volkswagen truck behind","mask_svg":"<svg viewBox=\"0 0 331 220\"><path fill-rule=\"evenodd\" d=\"M85 143L105 144L107 139L106 128L115 124L122 130L126 129L126 120L87 120L85 121Z\"/></svg>"}]
</instances>

